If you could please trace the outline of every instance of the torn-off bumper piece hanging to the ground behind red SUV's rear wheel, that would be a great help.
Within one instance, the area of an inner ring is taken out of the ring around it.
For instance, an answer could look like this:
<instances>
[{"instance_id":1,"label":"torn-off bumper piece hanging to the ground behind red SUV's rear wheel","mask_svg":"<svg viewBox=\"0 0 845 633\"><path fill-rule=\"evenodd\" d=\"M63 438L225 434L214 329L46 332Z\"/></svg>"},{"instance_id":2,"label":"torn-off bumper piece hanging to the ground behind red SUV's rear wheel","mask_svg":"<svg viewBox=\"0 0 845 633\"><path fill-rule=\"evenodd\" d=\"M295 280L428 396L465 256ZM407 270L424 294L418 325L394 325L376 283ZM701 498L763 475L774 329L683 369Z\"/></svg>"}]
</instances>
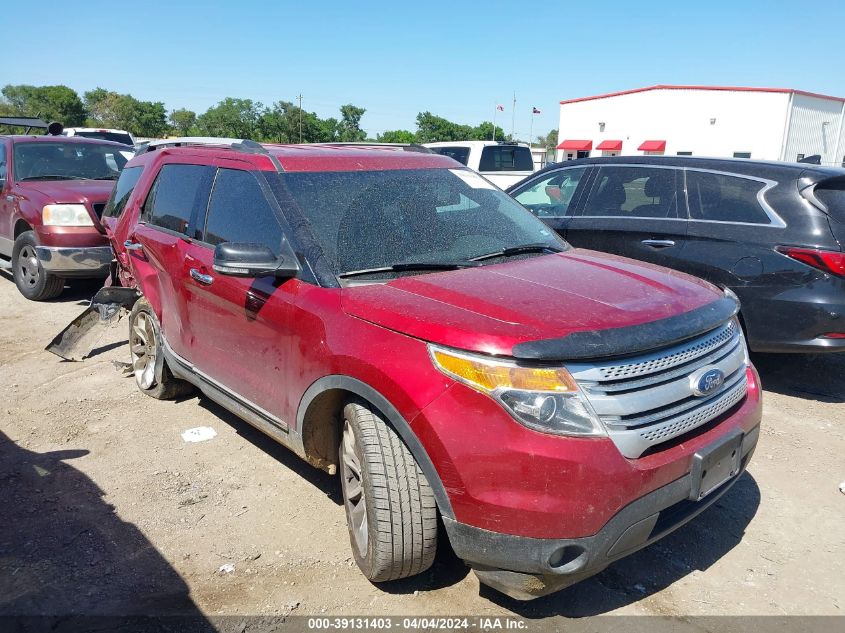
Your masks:
<instances>
[{"instance_id":1,"label":"torn-off bumper piece hanging to the ground behind red SUV's rear wheel","mask_svg":"<svg viewBox=\"0 0 845 633\"><path fill-rule=\"evenodd\" d=\"M97 348L104 332L131 310L141 293L134 288L100 288L91 305L63 329L45 348L65 360L85 360Z\"/></svg>"}]
</instances>

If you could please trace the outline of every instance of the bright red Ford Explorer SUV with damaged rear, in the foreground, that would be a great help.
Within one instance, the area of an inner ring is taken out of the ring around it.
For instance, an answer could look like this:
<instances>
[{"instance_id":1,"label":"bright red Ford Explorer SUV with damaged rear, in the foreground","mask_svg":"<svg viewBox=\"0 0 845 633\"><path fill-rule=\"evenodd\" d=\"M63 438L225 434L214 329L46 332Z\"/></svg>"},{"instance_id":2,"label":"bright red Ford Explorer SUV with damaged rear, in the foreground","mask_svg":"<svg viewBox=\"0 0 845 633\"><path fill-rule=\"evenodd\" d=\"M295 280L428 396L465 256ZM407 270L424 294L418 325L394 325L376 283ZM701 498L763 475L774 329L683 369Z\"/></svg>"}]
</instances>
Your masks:
<instances>
[{"instance_id":1,"label":"bright red Ford Explorer SUV with damaged rear, in the foreground","mask_svg":"<svg viewBox=\"0 0 845 633\"><path fill-rule=\"evenodd\" d=\"M730 293L573 249L446 156L213 143L152 143L104 213L138 387L199 388L338 473L370 580L445 536L544 595L746 468L760 385Z\"/></svg>"}]
</instances>

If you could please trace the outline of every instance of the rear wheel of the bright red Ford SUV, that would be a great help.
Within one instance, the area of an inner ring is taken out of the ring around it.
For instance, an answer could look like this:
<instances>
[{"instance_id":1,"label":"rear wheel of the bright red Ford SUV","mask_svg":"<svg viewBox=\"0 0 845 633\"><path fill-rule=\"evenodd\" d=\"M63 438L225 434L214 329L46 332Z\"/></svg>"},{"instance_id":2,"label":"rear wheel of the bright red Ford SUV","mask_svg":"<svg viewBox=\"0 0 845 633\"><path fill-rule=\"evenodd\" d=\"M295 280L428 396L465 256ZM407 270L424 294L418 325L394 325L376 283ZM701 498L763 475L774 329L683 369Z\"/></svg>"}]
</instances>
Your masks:
<instances>
[{"instance_id":1,"label":"rear wheel of the bright red Ford SUV","mask_svg":"<svg viewBox=\"0 0 845 633\"><path fill-rule=\"evenodd\" d=\"M129 314L129 354L135 384L141 393L156 400L172 400L194 390L193 385L179 380L170 371L163 354L161 327L149 302L138 299ZM161 363L161 378L156 377L156 364Z\"/></svg>"}]
</instances>

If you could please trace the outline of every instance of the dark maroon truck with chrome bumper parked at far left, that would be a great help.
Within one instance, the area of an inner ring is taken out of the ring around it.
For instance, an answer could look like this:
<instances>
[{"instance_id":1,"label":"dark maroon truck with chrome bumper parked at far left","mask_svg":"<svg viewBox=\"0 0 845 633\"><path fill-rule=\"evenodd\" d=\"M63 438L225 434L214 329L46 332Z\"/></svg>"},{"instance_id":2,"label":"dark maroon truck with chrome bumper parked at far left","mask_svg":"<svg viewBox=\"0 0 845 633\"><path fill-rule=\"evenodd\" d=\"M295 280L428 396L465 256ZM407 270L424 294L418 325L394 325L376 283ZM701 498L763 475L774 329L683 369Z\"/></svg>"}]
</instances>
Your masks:
<instances>
[{"instance_id":1,"label":"dark maroon truck with chrome bumper parked at far left","mask_svg":"<svg viewBox=\"0 0 845 633\"><path fill-rule=\"evenodd\" d=\"M69 278L108 276L99 214L131 156L81 137L0 136L0 267L27 299L52 299Z\"/></svg>"}]
</instances>

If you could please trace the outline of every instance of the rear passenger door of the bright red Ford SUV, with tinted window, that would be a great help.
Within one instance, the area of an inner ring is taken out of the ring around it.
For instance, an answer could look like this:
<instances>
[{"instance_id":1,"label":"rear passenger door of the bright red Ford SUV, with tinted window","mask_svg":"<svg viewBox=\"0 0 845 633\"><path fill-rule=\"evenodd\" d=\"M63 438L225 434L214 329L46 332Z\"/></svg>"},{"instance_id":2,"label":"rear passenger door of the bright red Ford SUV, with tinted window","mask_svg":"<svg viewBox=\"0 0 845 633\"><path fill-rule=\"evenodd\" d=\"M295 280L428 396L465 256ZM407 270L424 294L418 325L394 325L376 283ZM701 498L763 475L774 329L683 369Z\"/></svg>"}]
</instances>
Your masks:
<instances>
[{"instance_id":1,"label":"rear passenger door of the bright red Ford SUV, with tinted window","mask_svg":"<svg viewBox=\"0 0 845 633\"><path fill-rule=\"evenodd\" d=\"M132 274L153 307L160 309L167 345L182 357L189 355L192 334L181 271L213 175L214 168L208 165L162 165L126 240Z\"/></svg>"}]
</instances>

